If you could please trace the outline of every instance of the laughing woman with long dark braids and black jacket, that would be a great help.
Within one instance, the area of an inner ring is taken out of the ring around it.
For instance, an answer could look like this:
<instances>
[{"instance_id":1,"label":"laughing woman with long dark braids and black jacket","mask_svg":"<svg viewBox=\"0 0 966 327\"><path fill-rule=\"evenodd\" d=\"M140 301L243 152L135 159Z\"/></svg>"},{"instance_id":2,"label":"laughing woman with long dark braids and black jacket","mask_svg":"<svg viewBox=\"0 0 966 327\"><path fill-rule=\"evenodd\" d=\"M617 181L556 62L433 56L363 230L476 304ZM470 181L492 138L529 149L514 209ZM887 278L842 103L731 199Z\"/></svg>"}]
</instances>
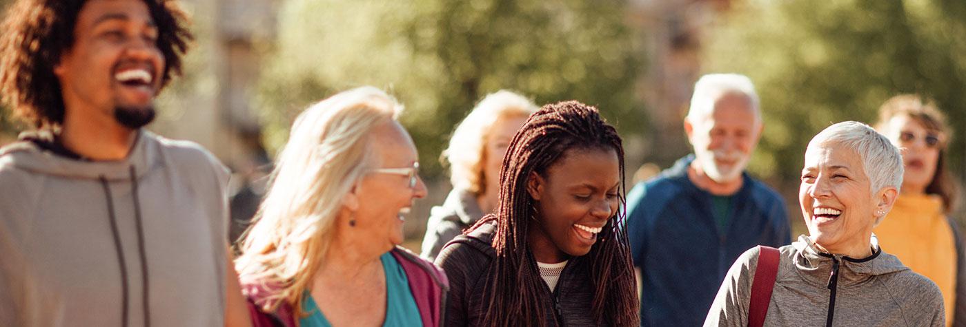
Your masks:
<instances>
[{"instance_id":1,"label":"laughing woman with long dark braids and black jacket","mask_svg":"<svg viewBox=\"0 0 966 327\"><path fill-rule=\"evenodd\" d=\"M624 151L577 101L548 104L514 136L499 202L437 258L446 325L639 325L623 220Z\"/></svg>"}]
</instances>

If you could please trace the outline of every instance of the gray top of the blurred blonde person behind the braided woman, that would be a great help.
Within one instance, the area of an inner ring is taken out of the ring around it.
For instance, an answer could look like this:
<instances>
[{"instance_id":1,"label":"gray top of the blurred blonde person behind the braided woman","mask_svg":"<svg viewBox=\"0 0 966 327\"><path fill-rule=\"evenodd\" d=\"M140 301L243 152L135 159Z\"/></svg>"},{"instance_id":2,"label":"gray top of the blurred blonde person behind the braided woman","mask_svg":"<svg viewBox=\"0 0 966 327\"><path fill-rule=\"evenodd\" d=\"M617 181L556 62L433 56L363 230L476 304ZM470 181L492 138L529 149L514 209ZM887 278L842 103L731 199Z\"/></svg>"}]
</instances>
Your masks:
<instances>
[{"instance_id":1,"label":"gray top of the blurred blonde person behind the braided woman","mask_svg":"<svg viewBox=\"0 0 966 327\"><path fill-rule=\"evenodd\" d=\"M443 245L463 234L463 230L476 224L480 218L483 218L483 210L476 203L476 195L466 190L453 189L442 205L434 206L430 210L420 257L431 261L436 259Z\"/></svg>"}]
</instances>

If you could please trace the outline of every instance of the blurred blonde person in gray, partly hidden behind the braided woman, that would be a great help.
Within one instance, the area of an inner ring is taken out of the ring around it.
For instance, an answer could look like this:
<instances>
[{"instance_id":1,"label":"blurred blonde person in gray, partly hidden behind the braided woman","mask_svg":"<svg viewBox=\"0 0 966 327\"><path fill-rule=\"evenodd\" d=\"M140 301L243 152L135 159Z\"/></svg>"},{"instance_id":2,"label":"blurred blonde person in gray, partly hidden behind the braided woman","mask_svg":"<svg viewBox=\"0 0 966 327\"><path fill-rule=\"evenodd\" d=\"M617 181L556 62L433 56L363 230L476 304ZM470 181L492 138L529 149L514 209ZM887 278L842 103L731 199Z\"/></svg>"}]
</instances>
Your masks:
<instances>
[{"instance_id":1,"label":"blurred blonde person in gray, partly hidden behind the braided woman","mask_svg":"<svg viewBox=\"0 0 966 327\"><path fill-rule=\"evenodd\" d=\"M442 246L497 207L499 169L510 140L539 109L509 91L484 97L456 126L442 156L449 162L453 190L433 207L422 242L422 257L436 259Z\"/></svg>"}]
</instances>

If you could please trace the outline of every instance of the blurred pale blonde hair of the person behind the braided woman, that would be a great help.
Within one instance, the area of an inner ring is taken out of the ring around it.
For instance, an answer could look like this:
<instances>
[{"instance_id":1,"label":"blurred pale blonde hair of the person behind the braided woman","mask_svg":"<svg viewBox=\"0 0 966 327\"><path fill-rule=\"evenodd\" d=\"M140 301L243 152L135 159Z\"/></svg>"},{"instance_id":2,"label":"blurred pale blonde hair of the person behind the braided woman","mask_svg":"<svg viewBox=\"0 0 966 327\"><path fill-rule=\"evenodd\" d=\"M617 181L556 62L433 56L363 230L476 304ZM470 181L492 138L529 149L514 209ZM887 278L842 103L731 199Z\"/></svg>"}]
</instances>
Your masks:
<instances>
[{"instance_id":1,"label":"blurred pale blonde hair of the person behind the braided woman","mask_svg":"<svg viewBox=\"0 0 966 327\"><path fill-rule=\"evenodd\" d=\"M481 194L486 187L483 180L483 150L497 120L505 117L529 117L540 109L524 95L506 90L486 95L456 126L449 147L442 156L449 162L449 181L453 188ZM498 178L498 177L497 177Z\"/></svg>"}]
</instances>

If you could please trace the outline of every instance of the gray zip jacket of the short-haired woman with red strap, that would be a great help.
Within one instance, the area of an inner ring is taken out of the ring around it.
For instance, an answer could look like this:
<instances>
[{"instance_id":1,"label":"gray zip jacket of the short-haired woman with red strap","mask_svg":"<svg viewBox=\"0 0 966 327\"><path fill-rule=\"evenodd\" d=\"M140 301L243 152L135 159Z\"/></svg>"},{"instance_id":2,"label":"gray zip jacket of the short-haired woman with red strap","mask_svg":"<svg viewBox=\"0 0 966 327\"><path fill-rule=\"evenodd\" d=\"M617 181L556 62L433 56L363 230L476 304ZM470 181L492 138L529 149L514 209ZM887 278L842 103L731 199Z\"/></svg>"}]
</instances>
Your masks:
<instances>
[{"instance_id":1,"label":"gray zip jacket of the short-haired woman with red strap","mask_svg":"<svg viewBox=\"0 0 966 327\"><path fill-rule=\"evenodd\" d=\"M867 259L822 254L808 236L781 247L779 271L765 326L945 326L939 287L883 253L872 237ZM758 248L728 271L705 326L748 326ZM838 262L838 279L832 276ZM837 285L836 285L837 284Z\"/></svg>"}]
</instances>

